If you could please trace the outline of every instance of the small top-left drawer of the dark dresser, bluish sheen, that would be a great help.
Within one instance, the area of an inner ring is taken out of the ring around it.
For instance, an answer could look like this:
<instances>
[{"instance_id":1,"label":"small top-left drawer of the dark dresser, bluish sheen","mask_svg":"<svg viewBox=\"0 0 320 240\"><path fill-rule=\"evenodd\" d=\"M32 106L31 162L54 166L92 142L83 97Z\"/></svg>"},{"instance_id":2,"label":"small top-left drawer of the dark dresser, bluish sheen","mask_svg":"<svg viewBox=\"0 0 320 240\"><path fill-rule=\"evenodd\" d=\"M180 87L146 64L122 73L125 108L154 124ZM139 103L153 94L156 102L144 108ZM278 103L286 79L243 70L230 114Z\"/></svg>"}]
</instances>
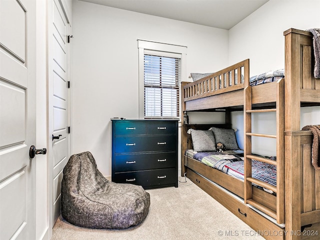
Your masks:
<instances>
[{"instance_id":1,"label":"small top-left drawer of the dark dresser, bluish sheen","mask_svg":"<svg viewBox=\"0 0 320 240\"><path fill-rule=\"evenodd\" d=\"M116 121L114 135L140 135L146 133L146 123L141 121Z\"/></svg>"}]
</instances>

